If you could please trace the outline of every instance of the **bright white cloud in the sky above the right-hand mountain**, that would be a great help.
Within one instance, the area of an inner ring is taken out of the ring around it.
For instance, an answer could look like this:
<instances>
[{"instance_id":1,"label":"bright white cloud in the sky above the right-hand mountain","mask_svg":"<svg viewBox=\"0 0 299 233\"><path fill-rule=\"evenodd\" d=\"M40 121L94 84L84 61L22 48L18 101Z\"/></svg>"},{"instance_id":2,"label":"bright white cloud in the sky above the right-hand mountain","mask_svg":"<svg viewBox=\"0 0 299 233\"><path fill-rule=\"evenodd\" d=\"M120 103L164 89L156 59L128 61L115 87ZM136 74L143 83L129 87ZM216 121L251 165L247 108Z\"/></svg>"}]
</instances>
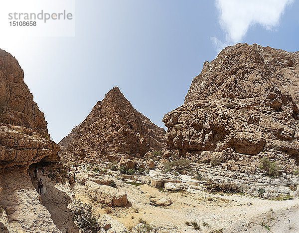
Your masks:
<instances>
[{"instance_id":1,"label":"bright white cloud in the sky above the right-hand mountain","mask_svg":"<svg viewBox=\"0 0 299 233\"><path fill-rule=\"evenodd\" d=\"M260 24L267 30L275 29L286 5L292 2L293 0L216 0L220 13L219 23L226 33L226 42L216 38L218 44L240 42L248 28L254 24Z\"/></svg>"}]
</instances>

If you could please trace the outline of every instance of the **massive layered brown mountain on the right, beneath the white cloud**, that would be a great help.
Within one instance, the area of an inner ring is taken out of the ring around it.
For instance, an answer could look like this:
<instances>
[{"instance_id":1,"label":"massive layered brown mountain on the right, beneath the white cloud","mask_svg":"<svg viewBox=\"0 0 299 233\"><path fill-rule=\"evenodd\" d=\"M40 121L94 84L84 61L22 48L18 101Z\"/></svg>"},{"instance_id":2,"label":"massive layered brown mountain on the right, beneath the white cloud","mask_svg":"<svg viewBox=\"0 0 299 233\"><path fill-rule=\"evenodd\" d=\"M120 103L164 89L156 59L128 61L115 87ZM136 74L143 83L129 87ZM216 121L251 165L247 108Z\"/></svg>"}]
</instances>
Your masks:
<instances>
[{"instance_id":1,"label":"massive layered brown mountain on the right, beneath the white cloud","mask_svg":"<svg viewBox=\"0 0 299 233\"><path fill-rule=\"evenodd\" d=\"M299 162L297 103L299 52L227 47L204 63L184 105L164 116L165 148L203 161L217 154L241 172L267 156L290 172Z\"/></svg>"}]
</instances>

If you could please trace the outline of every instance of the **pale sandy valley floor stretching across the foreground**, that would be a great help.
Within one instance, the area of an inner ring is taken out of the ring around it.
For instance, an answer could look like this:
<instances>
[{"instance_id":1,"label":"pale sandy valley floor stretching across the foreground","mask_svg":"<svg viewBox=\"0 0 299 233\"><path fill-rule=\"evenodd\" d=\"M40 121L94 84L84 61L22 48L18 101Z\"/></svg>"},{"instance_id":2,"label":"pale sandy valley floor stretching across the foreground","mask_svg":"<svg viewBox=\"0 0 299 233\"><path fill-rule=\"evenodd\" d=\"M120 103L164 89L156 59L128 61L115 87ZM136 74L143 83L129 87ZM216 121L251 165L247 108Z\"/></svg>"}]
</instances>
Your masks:
<instances>
[{"instance_id":1,"label":"pale sandy valley floor stretching across the foreground","mask_svg":"<svg viewBox=\"0 0 299 233\"><path fill-rule=\"evenodd\" d=\"M112 208L110 215L126 227L135 226L139 223L139 218L142 218L153 226L169 224L179 226L182 232L193 232L192 227L185 225L186 221L196 222L201 225L201 232L211 232L225 230L239 221L249 223L251 219L259 218L259 215L270 210L285 211L299 206L299 199L269 201L248 195L212 194L200 190L193 190L192 193L170 193L149 185L135 186L120 181L116 181L116 184L126 191L130 204L125 208ZM76 185L74 191L76 199L93 204L99 214L105 213L102 204L90 200L84 191L84 186ZM171 206L150 205L149 197L160 198L165 195L172 200ZM206 222L209 227L203 227L203 222Z\"/></svg>"}]
</instances>

